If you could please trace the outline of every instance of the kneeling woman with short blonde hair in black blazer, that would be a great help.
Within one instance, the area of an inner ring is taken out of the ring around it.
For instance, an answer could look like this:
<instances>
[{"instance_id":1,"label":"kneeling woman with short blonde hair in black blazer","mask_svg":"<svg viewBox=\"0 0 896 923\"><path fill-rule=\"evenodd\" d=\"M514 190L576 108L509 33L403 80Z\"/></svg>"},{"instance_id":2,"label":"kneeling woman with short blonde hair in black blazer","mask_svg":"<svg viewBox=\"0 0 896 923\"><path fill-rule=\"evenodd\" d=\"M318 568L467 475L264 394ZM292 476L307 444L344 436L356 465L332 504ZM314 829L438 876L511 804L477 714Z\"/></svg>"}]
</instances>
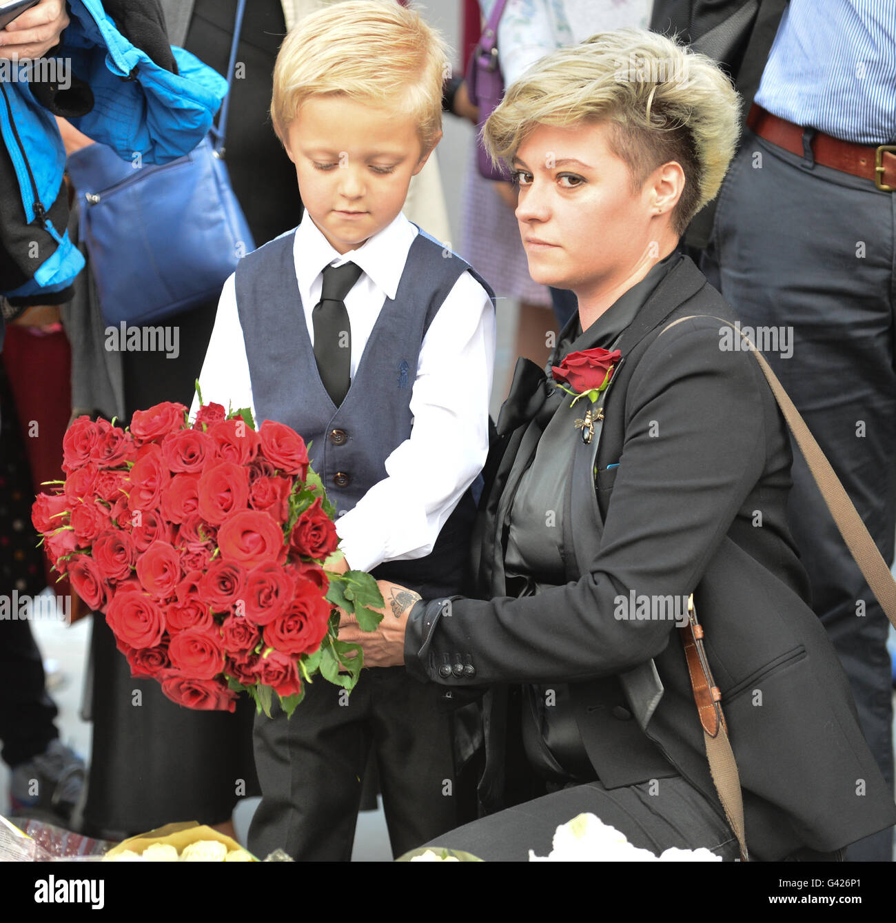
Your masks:
<instances>
[{"instance_id":1,"label":"kneeling woman with short blonde hair in black blazer","mask_svg":"<svg viewBox=\"0 0 896 923\"><path fill-rule=\"evenodd\" d=\"M482 598L384 582L376 635L344 634L366 665L405 664L454 701L490 689L479 790L503 810L438 845L524 860L591 811L656 854L735 859L675 630L691 593L750 857L838 859L896 818L806 602L783 418L730 308L675 249L722 182L737 105L707 58L620 30L544 58L487 124L520 182L532 278L577 294L579 328L553 378L520 363L502 410Z\"/></svg>"}]
</instances>

